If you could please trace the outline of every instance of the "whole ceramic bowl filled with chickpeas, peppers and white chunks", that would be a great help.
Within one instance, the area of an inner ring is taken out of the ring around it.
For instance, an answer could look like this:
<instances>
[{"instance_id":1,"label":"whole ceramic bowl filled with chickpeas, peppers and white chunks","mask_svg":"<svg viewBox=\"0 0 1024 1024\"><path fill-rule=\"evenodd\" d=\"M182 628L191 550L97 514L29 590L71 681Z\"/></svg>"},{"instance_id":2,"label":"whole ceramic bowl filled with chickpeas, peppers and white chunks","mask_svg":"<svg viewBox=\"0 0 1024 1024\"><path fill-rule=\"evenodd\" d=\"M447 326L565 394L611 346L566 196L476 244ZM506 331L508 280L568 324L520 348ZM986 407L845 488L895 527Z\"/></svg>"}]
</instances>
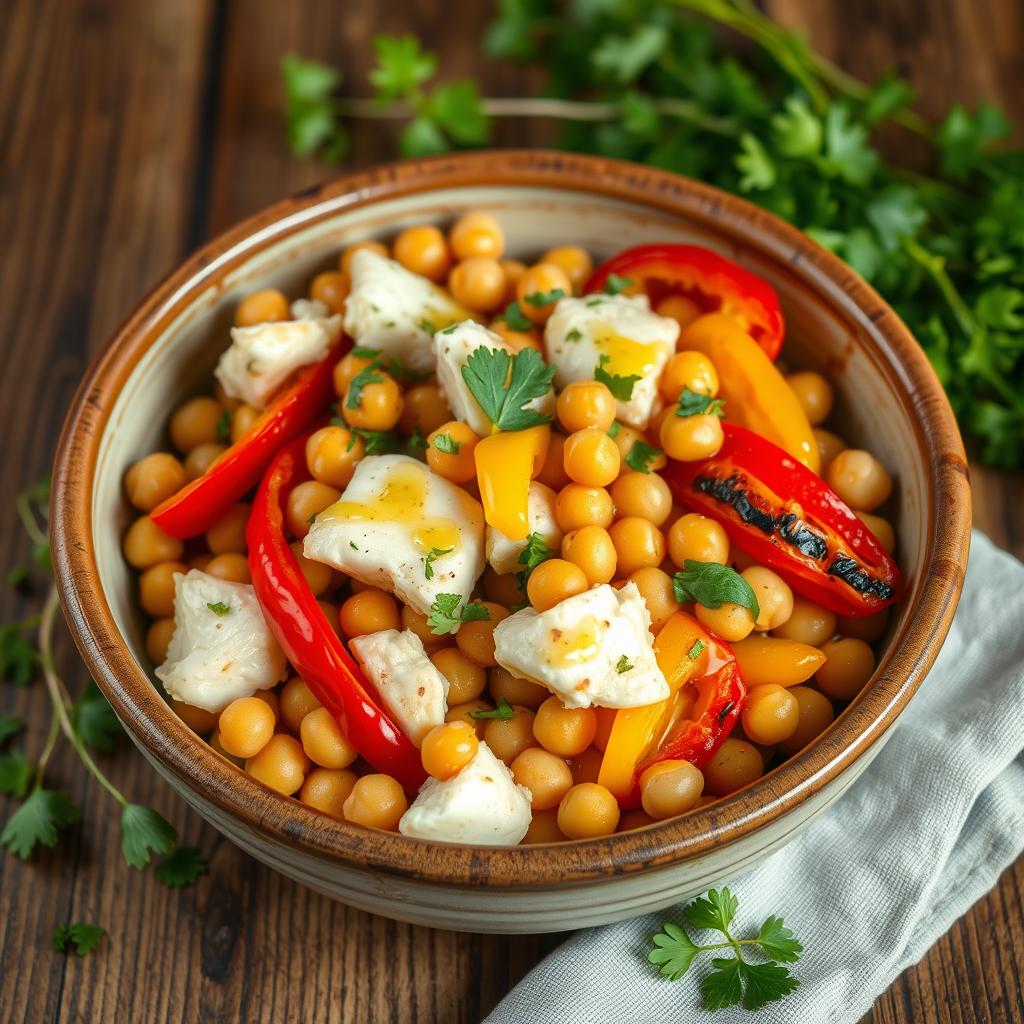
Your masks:
<instances>
[{"instance_id":1,"label":"whole ceramic bowl filled with chickpeas, peppers and white chunks","mask_svg":"<svg viewBox=\"0 0 1024 1024\"><path fill-rule=\"evenodd\" d=\"M921 348L770 214L543 152L360 172L159 285L68 417L68 620L146 759L354 906L666 906L881 749L948 630Z\"/></svg>"}]
</instances>

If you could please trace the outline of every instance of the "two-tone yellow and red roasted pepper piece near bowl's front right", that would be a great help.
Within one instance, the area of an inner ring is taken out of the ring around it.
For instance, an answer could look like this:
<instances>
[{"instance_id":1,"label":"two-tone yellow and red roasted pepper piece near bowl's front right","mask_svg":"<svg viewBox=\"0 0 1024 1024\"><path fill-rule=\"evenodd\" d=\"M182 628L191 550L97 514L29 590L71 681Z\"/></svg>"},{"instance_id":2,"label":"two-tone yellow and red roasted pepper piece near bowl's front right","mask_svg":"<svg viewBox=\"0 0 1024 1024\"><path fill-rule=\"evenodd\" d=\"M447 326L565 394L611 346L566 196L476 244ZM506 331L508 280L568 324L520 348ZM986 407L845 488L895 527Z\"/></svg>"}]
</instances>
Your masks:
<instances>
[{"instance_id":1,"label":"two-tone yellow and red roasted pepper piece near bowl's front right","mask_svg":"<svg viewBox=\"0 0 1024 1024\"><path fill-rule=\"evenodd\" d=\"M649 765L669 758L706 764L732 731L745 694L729 645L685 611L662 628L654 655L671 695L616 712L601 760L598 782L624 807L639 804L640 774ZM695 702L686 683L697 690Z\"/></svg>"}]
</instances>

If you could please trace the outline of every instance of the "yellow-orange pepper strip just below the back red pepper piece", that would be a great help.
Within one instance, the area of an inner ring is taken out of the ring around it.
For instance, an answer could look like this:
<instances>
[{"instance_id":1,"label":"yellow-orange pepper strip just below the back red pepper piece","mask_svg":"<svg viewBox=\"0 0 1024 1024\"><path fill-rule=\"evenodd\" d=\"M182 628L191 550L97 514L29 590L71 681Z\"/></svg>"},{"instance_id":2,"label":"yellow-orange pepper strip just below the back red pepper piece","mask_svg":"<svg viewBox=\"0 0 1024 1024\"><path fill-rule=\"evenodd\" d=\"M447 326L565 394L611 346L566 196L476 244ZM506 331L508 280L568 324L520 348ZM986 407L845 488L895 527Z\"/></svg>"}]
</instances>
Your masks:
<instances>
[{"instance_id":1,"label":"yellow-orange pepper strip just below the back red pepper piece","mask_svg":"<svg viewBox=\"0 0 1024 1024\"><path fill-rule=\"evenodd\" d=\"M699 316L676 347L703 352L715 364L727 420L767 437L812 473L820 471L818 445L803 407L775 364L735 321L723 313Z\"/></svg>"}]
</instances>

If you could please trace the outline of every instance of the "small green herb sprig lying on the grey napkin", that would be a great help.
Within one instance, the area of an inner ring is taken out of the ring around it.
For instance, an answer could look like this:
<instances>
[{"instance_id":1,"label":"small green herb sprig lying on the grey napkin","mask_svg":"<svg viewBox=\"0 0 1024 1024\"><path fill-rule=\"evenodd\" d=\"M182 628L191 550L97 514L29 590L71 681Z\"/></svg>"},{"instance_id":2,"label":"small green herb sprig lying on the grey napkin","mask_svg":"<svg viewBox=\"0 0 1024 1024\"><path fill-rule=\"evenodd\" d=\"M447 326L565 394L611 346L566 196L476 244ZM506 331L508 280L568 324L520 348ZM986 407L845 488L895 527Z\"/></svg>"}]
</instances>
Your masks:
<instances>
[{"instance_id":1,"label":"small green herb sprig lying on the grey napkin","mask_svg":"<svg viewBox=\"0 0 1024 1024\"><path fill-rule=\"evenodd\" d=\"M730 927L738 906L739 901L728 889L712 889L683 910L691 929L718 932L724 941L698 944L675 922L667 922L660 932L651 936L653 948L647 959L670 981L683 978L700 953L732 950L732 956L715 956L712 970L700 981L705 1010L737 1005L744 1010L762 1010L794 992L800 984L783 965L797 963L804 947L782 919L767 918L755 938L737 939ZM757 953L765 963L751 963L744 950L748 956Z\"/></svg>"}]
</instances>

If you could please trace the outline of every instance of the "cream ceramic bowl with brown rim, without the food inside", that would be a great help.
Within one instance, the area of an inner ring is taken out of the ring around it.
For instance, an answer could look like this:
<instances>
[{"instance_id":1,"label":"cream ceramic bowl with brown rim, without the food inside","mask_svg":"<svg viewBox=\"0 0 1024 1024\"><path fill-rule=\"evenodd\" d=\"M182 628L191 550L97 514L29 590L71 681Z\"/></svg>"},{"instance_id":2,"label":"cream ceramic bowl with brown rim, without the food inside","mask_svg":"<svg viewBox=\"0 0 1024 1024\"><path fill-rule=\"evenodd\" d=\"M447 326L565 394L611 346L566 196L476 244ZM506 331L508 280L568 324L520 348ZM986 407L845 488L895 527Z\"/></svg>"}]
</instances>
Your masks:
<instances>
[{"instance_id":1,"label":"cream ceramic bowl with brown rim, without the food inside","mask_svg":"<svg viewBox=\"0 0 1024 1024\"><path fill-rule=\"evenodd\" d=\"M346 824L264 787L171 711L144 652L135 582L121 557L125 469L166 446L170 411L209 386L231 310L255 288L304 294L346 245L487 209L512 255L555 243L605 257L691 242L778 290L784 358L837 385L844 435L896 479L892 516L906 596L873 679L802 754L745 790L637 831L494 849ZM970 527L967 468L942 389L896 314L845 264L762 210L715 188L613 161L479 153L348 175L285 200L211 242L129 316L86 376L60 440L53 493L56 578L72 632L145 758L254 857L329 896L402 921L479 932L599 925L728 880L784 844L878 754L945 637Z\"/></svg>"}]
</instances>

